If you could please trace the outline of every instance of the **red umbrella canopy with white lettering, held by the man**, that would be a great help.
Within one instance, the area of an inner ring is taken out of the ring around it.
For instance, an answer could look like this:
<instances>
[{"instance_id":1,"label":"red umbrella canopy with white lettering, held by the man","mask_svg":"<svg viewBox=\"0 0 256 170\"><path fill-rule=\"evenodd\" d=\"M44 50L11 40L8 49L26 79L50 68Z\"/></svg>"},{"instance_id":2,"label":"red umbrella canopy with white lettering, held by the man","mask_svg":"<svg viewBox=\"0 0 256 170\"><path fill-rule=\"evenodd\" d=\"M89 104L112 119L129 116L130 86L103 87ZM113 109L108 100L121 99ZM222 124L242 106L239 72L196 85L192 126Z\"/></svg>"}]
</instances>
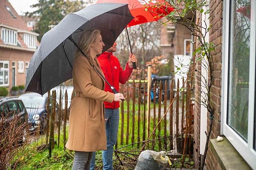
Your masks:
<instances>
[{"instance_id":1,"label":"red umbrella canopy with white lettering, held by the man","mask_svg":"<svg viewBox=\"0 0 256 170\"><path fill-rule=\"evenodd\" d=\"M125 3L128 4L134 19L127 27L143 24L146 22L158 21L163 16L174 10L165 0L98 0L97 3ZM145 8L148 10L146 11Z\"/></svg>"}]
</instances>

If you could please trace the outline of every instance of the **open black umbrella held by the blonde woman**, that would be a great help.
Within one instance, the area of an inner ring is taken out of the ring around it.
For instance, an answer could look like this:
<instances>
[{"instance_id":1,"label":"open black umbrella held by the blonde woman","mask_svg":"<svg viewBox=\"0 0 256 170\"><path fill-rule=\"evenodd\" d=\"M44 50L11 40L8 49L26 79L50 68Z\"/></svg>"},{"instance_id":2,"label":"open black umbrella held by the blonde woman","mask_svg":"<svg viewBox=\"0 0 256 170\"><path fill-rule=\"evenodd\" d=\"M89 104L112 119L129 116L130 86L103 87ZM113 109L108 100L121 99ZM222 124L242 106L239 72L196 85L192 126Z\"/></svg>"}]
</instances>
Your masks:
<instances>
[{"instance_id":1,"label":"open black umbrella held by the blonde woman","mask_svg":"<svg viewBox=\"0 0 256 170\"><path fill-rule=\"evenodd\" d=\"M28 67L25 91L45 94L72 78L73 59L78 47L76 43L84 30L93 28L101 31L104 52L114 44L132 19L128 5L116 3L90 5L67 14L57 26L43 35ZM114 87L111 86L111 89L116 92Z\"/></svg>"}]
</instances>

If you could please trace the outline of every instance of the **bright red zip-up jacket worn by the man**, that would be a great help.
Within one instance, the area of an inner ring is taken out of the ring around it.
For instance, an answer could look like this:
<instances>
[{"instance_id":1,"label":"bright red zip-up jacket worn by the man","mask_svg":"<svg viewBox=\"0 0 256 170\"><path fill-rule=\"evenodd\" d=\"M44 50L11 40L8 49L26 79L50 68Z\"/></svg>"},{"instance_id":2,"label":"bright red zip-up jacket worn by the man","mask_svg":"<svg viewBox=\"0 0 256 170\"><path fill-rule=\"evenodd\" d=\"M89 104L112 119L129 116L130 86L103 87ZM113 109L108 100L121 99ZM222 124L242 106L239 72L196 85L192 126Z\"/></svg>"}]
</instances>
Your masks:
<instances>
[{"instance_id":1,"label":"bright red zip-up jacket worn by the man","mask_svg":"<svg viewBox=\"0 0 256 170\"><path fill-rule=\"evenodd\" d=\"M129 68L127 63L126 69L123 70L120 66L119 60L113 55L112 52L104 52L99 57L97 57L97 59L100 63L100 67L106 80L119 92L119 83L126 83L131 73L133 72L133 68ZM105 83L105 91L112 92L107 83ZM105 108L107 109L116 109L120 106L119 102L104 102L104 104Z\"/></svg>"}]
</instances>

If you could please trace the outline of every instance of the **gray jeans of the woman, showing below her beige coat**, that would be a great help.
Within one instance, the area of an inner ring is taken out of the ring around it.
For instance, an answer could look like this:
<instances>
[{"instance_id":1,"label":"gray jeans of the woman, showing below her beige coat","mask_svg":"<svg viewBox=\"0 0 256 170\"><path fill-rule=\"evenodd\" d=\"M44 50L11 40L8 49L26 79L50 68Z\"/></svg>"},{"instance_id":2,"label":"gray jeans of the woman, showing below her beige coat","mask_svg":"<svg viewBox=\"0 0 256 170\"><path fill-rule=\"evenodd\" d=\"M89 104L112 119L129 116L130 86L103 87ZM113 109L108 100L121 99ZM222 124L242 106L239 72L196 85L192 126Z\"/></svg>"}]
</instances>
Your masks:
<instances>
[{"instance_id":1,"label":"gray jeans of the woman, showing below her beige coat","mask_svg":"<svg viewBox=\"0 0 256 170\"><path fill-rule=\"evenodd\" d=\"M92 152L75 151L72 170L90 170Z\"/></svg>"}]
</instances>

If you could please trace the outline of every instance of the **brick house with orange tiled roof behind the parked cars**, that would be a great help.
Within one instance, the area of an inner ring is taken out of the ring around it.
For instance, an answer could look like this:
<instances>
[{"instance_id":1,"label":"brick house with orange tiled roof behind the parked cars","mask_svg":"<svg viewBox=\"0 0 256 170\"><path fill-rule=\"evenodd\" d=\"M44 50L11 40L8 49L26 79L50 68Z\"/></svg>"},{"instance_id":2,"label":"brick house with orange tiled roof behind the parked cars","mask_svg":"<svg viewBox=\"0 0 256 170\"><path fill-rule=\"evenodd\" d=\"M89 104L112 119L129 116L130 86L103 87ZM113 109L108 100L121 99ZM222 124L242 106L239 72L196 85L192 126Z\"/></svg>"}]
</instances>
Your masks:
<instances>
[{"instance_id":1,"label":"brick house with orange tiled roof behind the parked cars","mask_svg":"<svg viewBox=\"0 0 256 170\"><path fill-rule=\"evenodd\" d=\"M0 1L0 87L25 85L29 61L39 44L8 0ZM10 93L9 93L10 94Z\"/></svg>"}]
</instances>

